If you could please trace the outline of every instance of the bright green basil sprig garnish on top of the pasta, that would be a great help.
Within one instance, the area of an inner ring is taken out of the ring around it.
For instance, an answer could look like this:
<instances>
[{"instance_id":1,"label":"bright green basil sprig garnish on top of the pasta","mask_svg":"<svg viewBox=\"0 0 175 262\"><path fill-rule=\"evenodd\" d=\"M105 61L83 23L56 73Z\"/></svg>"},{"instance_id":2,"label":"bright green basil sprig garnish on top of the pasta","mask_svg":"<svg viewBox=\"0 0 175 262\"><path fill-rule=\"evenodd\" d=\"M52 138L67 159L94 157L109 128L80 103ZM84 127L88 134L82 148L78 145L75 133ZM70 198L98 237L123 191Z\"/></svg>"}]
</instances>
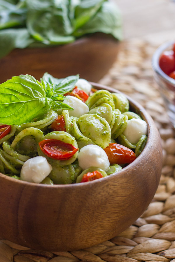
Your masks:
<instances>
[{"instance_id":1,"label":"bright green basil sprig garnish on top of the pasta","mask_svg":"<svg viewBox=\"0 0 175 262\"><path fill-rule=\"evenodd\" d=\"M47 77L52 80L47 81ZM0 123L21 125L47 114L50 108L72 109L62 100L79 75L56 79L45 74L41 82L31 75L20 75L0 84Z\"/></svg>"}]
</instances>

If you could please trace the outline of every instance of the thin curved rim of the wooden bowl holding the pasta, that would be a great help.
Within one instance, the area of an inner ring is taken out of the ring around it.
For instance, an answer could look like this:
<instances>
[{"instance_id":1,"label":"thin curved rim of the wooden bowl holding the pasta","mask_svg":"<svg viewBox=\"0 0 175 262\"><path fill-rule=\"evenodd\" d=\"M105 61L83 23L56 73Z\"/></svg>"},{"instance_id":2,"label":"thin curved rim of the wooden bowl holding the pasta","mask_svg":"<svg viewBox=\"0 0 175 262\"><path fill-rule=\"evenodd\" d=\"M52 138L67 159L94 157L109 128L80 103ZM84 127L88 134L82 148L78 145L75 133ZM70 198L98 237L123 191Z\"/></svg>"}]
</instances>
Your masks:
<instances>
[{"instance_id":1,"label":"thin curved rim of the wooden bowl holding the pasta","mask_svg":"<svg viewBox=\"0 0 175 262\"><path fill-rule=\"evenodd\" d=\"M94 82L90 82L90 84L92 84L93 87L95 87L96 89L105 89L108 90L110 92L115 92L115 93L121 93L122 92L118 91L117 89L105 86L105 85L101 85L98 83L94 83ZM125 95L125 94L124 94ZM152 130L151 125L153 124L153 119L151 118L151 116L146 112L146 110L138 103L136 102L134 99L130 98L128 95L125 95L127 97L127 99L129 100L129 104L134 105L137 109L139 109L139 111L143 114L144 119L147 123L147 128L148 128L148 139L146 142L146 145L143 149L143 151L141 152L141 154L132 162L130 163L128 166L126 166L124 169L122 169L121 171L118 171L114 174L111 174L110 176L106 176L103 178L99 178L96 180L92 180L90 183L74 183L74 184L58 184L58 185L47 185L47 184L40 184L40 183L33 183L33 182L27 182L24 180L18 180L18 179L14 179L12 177L9 177L5 174L0 173L0 177L5 178L7 180L10 180L12 183L20 183L21 185L24 186L31 186L31 187L50 187L50 188L54 188L54 189L59 189L59 188L72 188L72 187L89 187L90 184L92 183L101 183L102 181L105 182L106 180L112 179L115 176L125 176L127 173L128 169L132 169L132 167L136 166L139 162L140 162L140 158L143 157L146 154L146 150L147 148L149 148L150 144L152 144L152 141L150 140L153 134L153 130L155 130L155 128ZM157 131L158 132L158 131ZM15 186L15 185L14 185Z\"/></svg>"}]
</instances>

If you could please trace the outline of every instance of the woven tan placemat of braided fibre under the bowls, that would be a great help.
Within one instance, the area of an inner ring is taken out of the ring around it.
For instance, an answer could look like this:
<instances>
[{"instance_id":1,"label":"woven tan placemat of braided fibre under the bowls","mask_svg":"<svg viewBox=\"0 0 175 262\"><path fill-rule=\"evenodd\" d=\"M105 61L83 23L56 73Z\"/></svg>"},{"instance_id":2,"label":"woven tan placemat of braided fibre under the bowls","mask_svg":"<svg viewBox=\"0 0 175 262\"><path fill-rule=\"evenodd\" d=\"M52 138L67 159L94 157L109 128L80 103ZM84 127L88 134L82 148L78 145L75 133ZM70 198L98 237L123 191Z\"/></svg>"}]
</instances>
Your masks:
<instances>
[{"instance_id":1,"label":"woven tan placemat of braided fibre under the bowls","mask_svg":"<svg viewBox=\"0 0 175 262\"><path fill-rule=\"evenodd\" d=\"M175 136L153 80L151 57L157 46L143 39L125 41L113 68L100 81L143 105L160 132L162 176L147 210L119 236L83 250L45 252L1 240L0 262L175 262Z\"/></svg>"}]
</instances>

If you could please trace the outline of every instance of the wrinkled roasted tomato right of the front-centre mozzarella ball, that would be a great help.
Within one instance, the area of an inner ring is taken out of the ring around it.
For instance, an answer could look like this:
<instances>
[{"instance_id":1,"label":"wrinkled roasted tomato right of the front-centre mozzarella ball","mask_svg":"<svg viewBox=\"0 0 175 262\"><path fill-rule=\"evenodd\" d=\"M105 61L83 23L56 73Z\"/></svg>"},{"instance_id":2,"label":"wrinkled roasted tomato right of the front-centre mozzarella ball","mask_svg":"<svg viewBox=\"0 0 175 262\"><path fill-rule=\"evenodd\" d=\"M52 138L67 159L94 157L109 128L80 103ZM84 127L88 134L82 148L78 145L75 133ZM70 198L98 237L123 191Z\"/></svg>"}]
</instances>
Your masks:
<instances>
[{"instance_id":1,"label":"wrinkled roasted tomato right of the front-centre mozzarella ball","mask_svg":"<svg viewBox=\"0 0 175 262\"><path fill-rule=\"evenodd\" d=\"M129 164L136 159L135 153L120 144L111 143L104 148L110 164Z\"/></svg>"}]
</instances>

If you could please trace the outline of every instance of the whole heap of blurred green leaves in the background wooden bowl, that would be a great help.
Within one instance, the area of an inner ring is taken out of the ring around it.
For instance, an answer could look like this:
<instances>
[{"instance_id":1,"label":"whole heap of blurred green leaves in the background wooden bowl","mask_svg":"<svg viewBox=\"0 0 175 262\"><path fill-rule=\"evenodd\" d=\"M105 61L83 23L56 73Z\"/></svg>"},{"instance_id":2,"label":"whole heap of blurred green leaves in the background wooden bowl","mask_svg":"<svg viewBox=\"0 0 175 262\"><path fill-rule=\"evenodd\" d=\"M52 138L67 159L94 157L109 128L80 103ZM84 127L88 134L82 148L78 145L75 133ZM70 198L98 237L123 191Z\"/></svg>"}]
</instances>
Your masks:
<instances>
[{"instance_id":1,"label":"whole heap of blurred green leaves in the background wooden bowl","mask_svg":"<svg viewBox=\"0 0 175 262\"><path fill-rule=\"evenodd\" d=\"M62 45L95 32L121 40L121 15L112 1L0 0L0 59L14 48Z\"/></svg>"}]
</instances>

